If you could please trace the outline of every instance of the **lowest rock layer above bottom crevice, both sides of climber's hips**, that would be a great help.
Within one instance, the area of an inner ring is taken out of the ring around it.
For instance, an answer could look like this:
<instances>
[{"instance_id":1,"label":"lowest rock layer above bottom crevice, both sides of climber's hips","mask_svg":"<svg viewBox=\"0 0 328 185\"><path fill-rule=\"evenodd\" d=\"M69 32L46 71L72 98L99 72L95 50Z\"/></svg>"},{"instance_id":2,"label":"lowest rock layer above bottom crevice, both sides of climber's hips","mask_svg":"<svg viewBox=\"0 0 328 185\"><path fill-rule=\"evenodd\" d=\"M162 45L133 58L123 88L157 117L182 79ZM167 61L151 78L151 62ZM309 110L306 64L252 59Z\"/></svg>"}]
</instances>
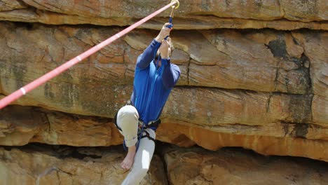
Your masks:
<instances>
[{"instance_id":1,"label":"lowest rock layer above bottom crevice, both sides of climber's hips","mask_svg":"<svg viewBox=\"0 0 328 185\"><path fill-rule=\"evenodd\" d=\"M165 116L163 116L165 117ZM178 146L198 144L217 150L242 146L265 155L327 158L328 128L306 123L261 123L263 125L167 121L156 139ZM29 142L72 146L121 144L123 137L111 119L64 114L34 107L10 106L0 111L0 144L15 146Z\"/></svg>"}]
</instances>

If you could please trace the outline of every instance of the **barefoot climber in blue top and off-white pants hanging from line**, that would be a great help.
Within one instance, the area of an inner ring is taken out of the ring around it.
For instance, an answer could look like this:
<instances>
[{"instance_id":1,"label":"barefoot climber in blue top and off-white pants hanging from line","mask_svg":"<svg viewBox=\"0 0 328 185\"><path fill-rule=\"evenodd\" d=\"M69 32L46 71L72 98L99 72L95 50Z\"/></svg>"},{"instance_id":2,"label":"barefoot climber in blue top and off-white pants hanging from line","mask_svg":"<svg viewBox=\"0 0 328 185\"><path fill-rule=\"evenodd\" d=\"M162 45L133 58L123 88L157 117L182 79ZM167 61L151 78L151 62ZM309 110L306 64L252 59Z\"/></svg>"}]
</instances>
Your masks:
<instances>
[{"instance_id":1,"label":"barefoot climber in blue top and off-white pants hanging from line","mask_svg":"<svg viewBox=\"0 0 328 185\"><path fill-rule=\"evenodd\" d=\"M114 118L128 147L121 167L125 170L132 167L122 184L139 184L146 176L155 149L160 114L180 76L179 67L170 60L171 27L171 23L165 23L137 58L130 104L122 107Z\"/></svg>"}]
</instances>

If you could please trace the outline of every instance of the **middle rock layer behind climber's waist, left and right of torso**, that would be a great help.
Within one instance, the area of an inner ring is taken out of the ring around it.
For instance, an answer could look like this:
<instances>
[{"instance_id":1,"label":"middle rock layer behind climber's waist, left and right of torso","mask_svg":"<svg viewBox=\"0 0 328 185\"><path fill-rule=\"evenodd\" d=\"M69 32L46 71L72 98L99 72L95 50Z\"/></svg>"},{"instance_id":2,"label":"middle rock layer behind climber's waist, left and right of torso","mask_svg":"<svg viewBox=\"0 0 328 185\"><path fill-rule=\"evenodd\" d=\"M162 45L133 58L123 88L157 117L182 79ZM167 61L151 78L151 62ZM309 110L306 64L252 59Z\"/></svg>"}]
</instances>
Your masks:
<instances>
[{"instance_id":1,"label":"middle rock layer behind climber's waist, left and right of torso","mask_svg":"<svg viewBox=\"0 0 328 185\"><path fill-rule=\"evenodd\" d=\"M125 85L48 85L53 88L53 94L48 94L47 88L41 86L14 104L113 118L116 111L129 100L132 92L132 87ZM203 125L265 125L280 121L312 123L311 101L308 95L271 95L240 90L177 87L172 90L162 118ZM326 123L317 125L327 127Z\"/></svg>"}]
</instances>

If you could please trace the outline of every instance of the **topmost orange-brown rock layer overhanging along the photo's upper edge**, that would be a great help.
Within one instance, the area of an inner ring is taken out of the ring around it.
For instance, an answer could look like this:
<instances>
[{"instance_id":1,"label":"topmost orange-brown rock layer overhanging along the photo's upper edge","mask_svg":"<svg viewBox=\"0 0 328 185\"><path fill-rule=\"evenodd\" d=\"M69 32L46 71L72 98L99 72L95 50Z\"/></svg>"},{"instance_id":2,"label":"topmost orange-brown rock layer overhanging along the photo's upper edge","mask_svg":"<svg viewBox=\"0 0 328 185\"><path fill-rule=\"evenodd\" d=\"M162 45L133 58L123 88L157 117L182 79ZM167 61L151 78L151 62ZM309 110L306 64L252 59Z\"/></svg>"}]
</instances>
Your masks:
<instances>
[{"instance_id":1,"label":"topmost orange-brown rock layer overhanging along the photo's upper edge","mask_svg":"<svg viewBox=\"0 0 328 185\"><path fill-rule=\"evenodd\" d=\"M132 25L168 1L57 1L2 0L1 20L42 22L50 25ZM9 5L8 5L9 4ZM19 4L20 6L13 6ZM9 7L9 8L8 8ZM24 9L21 9L24 8ZM10 10L10 11L8 11ZM181 1L175 11L175 29L328 29L327 4L320 1ZM141 27L158 29L170 11ZM318 22L322 21L322 22Z\"/></svg>"}]
</instances>

